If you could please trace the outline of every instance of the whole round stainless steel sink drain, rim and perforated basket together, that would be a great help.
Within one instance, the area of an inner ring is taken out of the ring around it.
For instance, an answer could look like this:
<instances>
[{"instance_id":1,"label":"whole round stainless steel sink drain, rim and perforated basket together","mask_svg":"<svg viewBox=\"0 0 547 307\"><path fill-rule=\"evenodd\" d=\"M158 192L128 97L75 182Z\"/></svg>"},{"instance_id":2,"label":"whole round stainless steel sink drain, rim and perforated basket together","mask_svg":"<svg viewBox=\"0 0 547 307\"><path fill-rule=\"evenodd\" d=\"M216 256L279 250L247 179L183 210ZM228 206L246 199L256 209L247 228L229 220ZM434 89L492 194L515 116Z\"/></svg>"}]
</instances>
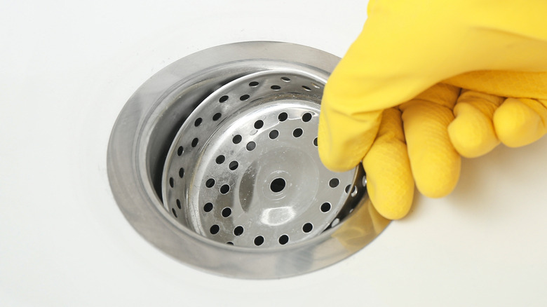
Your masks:
<instances>
[{"instance_id":1,"label":"whole round stainless steel sink drain, rim and perforated basket together","mask_svg":"<svg viewBox=\"0 0 547 307\"><path fill-rule=\"evenodd\" d=\"M365 247L389 221L366 197L362 170L333 175L316 154L320 95L338 61L306 46L254 41L199 51L152 76L123 107L109 141L109 181L126 219L175 259L236 278L299 275ZM288 169L271 166L283 156ZM263 158L271 163L258 172ZM253 219L264 200L270 213L282 203L285 211Z\"/></svg>"}]
</instances>

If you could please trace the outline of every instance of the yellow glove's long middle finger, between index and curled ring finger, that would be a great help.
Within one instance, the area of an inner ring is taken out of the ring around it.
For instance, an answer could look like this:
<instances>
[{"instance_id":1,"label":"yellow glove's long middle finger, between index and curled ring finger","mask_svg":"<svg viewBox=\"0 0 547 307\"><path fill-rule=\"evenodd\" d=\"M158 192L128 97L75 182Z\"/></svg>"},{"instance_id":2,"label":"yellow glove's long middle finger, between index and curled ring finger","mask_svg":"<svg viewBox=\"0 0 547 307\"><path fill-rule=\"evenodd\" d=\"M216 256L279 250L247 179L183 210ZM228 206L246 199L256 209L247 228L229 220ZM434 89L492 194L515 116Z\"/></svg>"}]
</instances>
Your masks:
<instances>
[{"instance_id":1,"label":"yellow glove's long middle finger, between index and curled ring finger","mask_svg":"<svg viewBox=\"0 0 547 307\"><path fill-rule=\"evenodd\" d=\"M439 83L400 106L412 175L428 197L446 196L459 179L461 157L447 131L458 95L459 88Z\"/></svg>"}]
</instances>

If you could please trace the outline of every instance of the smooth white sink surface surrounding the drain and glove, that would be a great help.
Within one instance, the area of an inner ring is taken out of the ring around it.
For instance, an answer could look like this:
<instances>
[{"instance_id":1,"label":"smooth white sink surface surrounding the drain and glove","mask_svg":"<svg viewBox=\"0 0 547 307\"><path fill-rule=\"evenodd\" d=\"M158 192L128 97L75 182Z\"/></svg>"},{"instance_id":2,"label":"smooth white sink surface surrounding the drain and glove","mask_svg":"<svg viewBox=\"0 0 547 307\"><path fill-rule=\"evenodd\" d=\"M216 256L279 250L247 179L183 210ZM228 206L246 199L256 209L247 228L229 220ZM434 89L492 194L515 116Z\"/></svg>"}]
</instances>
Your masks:
<instances>
[{"instance_id":1,"label":"smooth white sink surface surrounding the drain and glove","mask_svg":"<svg viewBox=\"0 0 547 307\"><path fill-rule=\"evenodd\" d=\"M547 139L464 160L353 257L236 280L167 257L109 189L110 130L156 71L236 41L338 56L366 1L0 2L0 306L546 306Z\"/></svg>"}]
</instances>

